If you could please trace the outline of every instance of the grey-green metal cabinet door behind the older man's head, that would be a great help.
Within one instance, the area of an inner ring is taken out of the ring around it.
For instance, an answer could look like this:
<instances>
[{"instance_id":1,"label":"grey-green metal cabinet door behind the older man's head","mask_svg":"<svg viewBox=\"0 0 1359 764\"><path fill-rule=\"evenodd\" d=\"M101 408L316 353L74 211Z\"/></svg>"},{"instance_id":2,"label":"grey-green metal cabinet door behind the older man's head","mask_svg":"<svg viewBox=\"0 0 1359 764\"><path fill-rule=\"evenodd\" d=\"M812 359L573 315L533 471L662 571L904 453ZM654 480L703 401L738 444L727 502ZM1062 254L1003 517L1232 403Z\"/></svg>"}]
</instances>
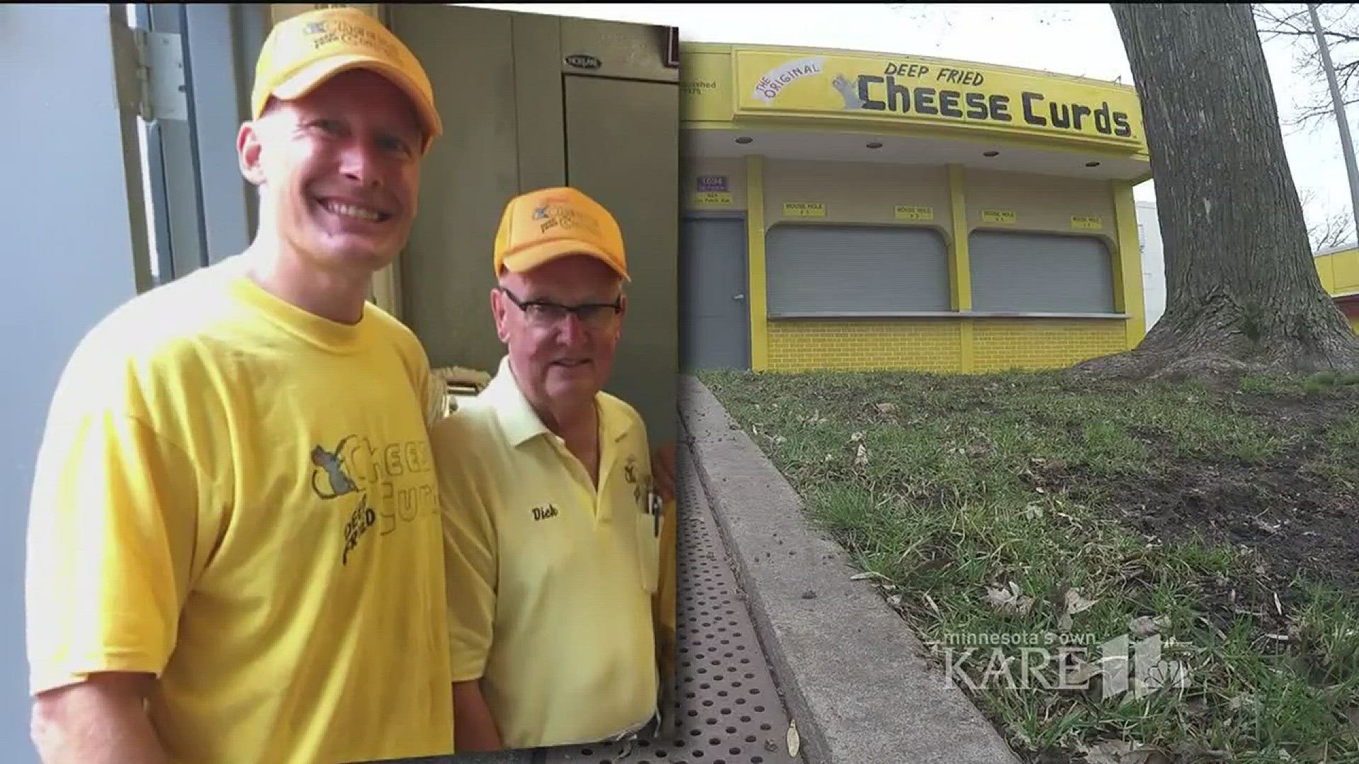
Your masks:
<instances>
[{"instance_id":1,"label":"grey-green metal cabinet door behind the older man's head","mask_svg":"<svg viewBox=\"0 0 1359 764\"><path fill-rule=\"evenodd\" d=\"M564 76L567 182L605 205L628 253L628 315L606 390L651 443L675 438L680 86Z\"/></svg>"}]
</instances>

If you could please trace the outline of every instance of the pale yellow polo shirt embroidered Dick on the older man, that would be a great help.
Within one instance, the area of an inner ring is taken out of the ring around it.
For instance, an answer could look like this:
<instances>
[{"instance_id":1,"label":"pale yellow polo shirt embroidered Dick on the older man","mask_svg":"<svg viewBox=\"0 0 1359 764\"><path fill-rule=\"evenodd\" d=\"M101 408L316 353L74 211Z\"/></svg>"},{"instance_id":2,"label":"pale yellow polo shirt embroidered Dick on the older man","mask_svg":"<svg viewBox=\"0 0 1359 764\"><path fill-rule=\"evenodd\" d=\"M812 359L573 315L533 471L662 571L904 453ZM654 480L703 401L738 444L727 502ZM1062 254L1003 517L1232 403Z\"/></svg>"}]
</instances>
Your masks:
<instances>
[{"instance_id":1,"label":"pale yellow polo shirt embroidered Dick on the older man","mask_svg":"<svg viewBox=\"0 0 1359 764\"><path fill-rule=\"evenodd\" d=\"M599 485L501 360L435 426L453 681L481 678L507 748L593 742L656 711L660 527L641 417L599 393Z\"/></svg>"}]
</instances>

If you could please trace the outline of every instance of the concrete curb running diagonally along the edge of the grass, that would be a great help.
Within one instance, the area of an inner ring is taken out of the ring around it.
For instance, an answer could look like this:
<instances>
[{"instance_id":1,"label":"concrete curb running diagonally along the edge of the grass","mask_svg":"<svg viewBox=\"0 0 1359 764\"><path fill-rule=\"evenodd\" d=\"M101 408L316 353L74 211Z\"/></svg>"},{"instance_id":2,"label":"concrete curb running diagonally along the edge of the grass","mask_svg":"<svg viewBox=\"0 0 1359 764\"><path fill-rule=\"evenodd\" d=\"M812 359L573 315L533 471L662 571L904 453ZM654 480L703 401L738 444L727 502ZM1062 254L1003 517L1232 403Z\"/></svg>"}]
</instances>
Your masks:
<instances>
[{"instance_id":1,"label":"concrete curb running diagonally along the edge of the grass","mask_svg":"<svg viewBox=\"0 0 1359 764\"><path fill-rule=\"evenodd\" d=\"M701 382L680 415L809 764L1018 764Z\"/></svg>"}]
</instances>

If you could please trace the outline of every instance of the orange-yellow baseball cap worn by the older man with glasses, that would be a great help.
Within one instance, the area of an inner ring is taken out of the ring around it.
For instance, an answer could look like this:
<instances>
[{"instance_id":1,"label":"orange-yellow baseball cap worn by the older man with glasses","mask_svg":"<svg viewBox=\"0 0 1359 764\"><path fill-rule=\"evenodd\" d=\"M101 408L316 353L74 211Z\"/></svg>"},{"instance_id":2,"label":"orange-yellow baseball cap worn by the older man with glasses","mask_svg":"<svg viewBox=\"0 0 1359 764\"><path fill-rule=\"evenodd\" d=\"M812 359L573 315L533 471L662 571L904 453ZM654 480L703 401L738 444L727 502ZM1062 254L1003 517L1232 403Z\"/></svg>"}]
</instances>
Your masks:
<instances>
[{"instance_id":1,"label":"orange-yellow baseball cap worn by the older man with glasses","mask_svg":"<svg viewBox=\"0 0 1359 764\"><path fill-rule=\"evenodd\" d=\"M622 231L598 201L568 186L538 189L510 200L496 231L496 276L501 269L519 273L568 254L599 258L631 280Z\"/></svg>"}]
</instances>

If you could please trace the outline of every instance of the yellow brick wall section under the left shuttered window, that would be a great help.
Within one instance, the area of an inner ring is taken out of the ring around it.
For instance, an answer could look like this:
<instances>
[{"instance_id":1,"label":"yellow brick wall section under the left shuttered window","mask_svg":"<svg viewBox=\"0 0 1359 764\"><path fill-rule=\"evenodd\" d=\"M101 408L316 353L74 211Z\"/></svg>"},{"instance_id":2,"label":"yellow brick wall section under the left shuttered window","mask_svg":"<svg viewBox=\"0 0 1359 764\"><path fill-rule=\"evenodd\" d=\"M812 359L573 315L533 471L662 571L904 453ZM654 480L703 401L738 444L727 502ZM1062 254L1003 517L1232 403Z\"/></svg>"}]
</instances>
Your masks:
<instances>
[{"instance_id":1,"label":"yellow brick wall section under the left shuttered window","mask_svg":"<svg viewBox=\"0 0 1359 764\"><path fill-rule=\"evenodd\" d=\"M959 371L958 322L949 318L771 321L769 368Z\"/></svg>"}]
</instances>

